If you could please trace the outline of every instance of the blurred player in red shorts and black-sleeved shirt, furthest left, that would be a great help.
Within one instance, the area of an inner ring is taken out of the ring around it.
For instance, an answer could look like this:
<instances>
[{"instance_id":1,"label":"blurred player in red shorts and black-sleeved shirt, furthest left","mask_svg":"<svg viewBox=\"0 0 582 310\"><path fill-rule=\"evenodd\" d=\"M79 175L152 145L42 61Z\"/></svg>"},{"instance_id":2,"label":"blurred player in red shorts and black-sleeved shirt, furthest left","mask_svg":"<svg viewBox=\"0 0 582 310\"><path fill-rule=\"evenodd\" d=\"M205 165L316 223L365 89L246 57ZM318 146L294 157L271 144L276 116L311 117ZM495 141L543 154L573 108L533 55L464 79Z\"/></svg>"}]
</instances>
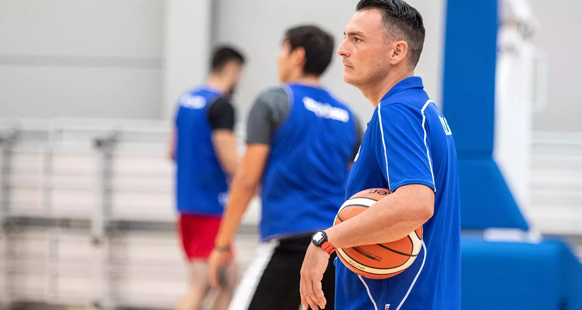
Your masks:
<instances>
[{"instance_id":1,"label":"blurred player in red shorts and black-sleeved shirt, furthest left","mask_svg":"<svg viewBox=\"0 0 582 310\"><path fill-rule=\"evenodd\" d=\"M210 290L208 255L237 165L235 109L230 95L239 82L244 57L231 47L214 50L206 84L184 92L169 145L176 162L178 230L190 262L190 287L179 310L199 309ZM214 309L226 309L236 285L233 265L221 269L221 290Z\"/></svg>"}]
</instances>

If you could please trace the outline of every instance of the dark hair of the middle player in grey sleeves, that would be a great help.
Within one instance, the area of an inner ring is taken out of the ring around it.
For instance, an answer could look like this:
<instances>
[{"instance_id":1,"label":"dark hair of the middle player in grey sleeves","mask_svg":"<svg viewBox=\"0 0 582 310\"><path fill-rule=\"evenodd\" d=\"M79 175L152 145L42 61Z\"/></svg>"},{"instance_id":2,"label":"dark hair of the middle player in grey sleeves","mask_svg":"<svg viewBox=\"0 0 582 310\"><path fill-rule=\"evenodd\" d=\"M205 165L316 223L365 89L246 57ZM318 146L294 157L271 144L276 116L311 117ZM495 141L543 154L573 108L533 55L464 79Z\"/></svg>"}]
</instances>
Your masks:
<instances>
[{"instance_id":1,"label":"dark hair of the middle player in grey sleeves","mask_svg":"<svg viewBox=\"0 0 582 310\"><path fill-rule=\"evenodd\" d=\"M331 34L313 25L290 28L285 32L283 41L288 42L293 51L296 48L305 50L304 74L321 76L331 63L333 45Z\"/></svg>"}]
</instances>

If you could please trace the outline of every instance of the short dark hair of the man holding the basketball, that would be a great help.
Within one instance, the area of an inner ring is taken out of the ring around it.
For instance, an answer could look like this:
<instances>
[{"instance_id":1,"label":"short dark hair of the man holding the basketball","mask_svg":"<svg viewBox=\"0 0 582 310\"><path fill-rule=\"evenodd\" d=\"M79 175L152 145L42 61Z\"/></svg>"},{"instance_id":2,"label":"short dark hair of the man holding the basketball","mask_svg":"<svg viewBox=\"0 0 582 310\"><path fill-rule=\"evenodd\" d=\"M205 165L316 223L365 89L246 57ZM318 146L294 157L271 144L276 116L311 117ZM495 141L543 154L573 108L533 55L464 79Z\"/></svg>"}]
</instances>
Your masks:
<instances>
[{"instance_id":1,"label":"short dark hair of the man holding the basketball","mask_svg":"<svg viewBox=\"0 0 582 310\"><path fill-rule=\"evenodd\" d=\"M411 67L416 67L424 45L423 16L403 0L361 0L356 10L377 9L382 12L382 22L392 41L408 44Z\"/></svg>"}]
</instances>

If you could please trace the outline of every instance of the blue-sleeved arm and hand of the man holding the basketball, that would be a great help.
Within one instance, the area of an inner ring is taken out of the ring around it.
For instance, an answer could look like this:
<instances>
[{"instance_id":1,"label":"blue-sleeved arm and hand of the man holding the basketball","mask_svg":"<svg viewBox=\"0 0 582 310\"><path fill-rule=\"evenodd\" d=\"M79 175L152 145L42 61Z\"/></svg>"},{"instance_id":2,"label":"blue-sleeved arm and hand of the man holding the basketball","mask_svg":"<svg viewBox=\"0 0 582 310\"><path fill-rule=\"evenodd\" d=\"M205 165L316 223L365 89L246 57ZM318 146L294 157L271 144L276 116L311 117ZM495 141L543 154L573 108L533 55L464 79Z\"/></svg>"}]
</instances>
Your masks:
<instances>
[{"instance_id":1,"label":"blue-sleeved arm and hand of the man holding the basketball","mask_svg":"<svg viewBox=\"0 0 582 310\"><path fill-rule=\"evenodd\" d=\"M378 128L373 129L375 152L392 194L327 229L328 242L335 248L400 240L427 222L434 212L430 141L422 113L404 104L382 106L378 111ZM307 304L321 307L325 300L321 291L310 291L309 287L321 285L317 279L323 273L322 266L315 262L327 255L313 244L307 251L301 269L304 308Z\"/></svg>"}]
</instances>

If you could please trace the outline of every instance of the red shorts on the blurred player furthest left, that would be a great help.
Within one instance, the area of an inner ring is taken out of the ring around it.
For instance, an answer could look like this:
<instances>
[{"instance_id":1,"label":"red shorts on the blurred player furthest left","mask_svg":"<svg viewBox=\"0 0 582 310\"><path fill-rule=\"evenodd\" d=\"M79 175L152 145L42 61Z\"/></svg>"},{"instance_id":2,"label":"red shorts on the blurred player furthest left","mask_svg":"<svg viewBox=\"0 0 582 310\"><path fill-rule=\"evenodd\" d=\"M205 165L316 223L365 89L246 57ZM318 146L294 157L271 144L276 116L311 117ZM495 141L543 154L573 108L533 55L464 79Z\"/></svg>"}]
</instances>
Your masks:
<instances>
[{"instance_id":1,"label":"red shorts on the blurred player furthest left","mask_svg":"<svg viewBox=\"0 0 582 310\"><path fill-rule=\"evenodd\" d=\"M182 214L178 232L188 261L205 260L214 249L221 218Z\"/></svg>"}]
</instances>

